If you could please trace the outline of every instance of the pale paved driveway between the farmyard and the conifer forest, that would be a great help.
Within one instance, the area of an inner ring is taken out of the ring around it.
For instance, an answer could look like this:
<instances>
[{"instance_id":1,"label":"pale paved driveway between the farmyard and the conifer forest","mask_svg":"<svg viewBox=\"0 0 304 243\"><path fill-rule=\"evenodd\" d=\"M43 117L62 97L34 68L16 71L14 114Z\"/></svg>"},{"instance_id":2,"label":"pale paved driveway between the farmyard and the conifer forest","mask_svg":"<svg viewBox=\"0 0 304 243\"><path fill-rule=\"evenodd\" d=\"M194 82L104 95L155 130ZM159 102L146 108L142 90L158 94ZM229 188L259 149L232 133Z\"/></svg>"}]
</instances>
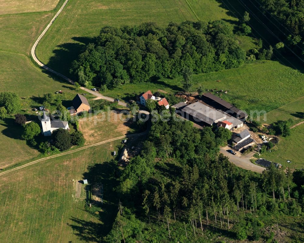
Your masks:
<instances>
[{"instance_id":1,"label":"pale paved driveway between the farmyard and the conifer forest","mask_svg":"<svg viewBox=\"0 0 304 243\"><path fill-rule=\"evenodd\" d=\"M250 158L253 155L253 152L242 156L242 157L238 157L237 155L233 155L230 154L226 151L226 149L221 148L221 153L224 154L225 156L227 156L229 158L229 161L232 162L233 164L235 164L237 167L246 169L246 170L251 170L257 173L262 174L262 172L265 170L264 167L261 167L259 165L255 165L253 163L250 162Z\"/></svg>"}]
</instances>

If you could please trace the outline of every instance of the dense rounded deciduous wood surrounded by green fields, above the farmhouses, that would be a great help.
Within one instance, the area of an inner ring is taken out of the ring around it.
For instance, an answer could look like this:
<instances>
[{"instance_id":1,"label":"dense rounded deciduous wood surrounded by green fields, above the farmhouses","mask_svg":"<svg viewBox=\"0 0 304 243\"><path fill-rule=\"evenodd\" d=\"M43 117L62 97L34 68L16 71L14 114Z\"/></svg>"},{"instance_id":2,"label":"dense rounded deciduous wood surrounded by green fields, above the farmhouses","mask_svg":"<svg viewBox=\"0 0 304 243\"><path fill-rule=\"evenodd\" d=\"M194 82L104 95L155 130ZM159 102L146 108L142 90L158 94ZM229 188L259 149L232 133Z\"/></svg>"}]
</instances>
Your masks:
<instances>
[{"instance_id":1,"label":"dense rounded deciduous wood surrounded by green fields, above the farmhouses","mask_svg":"<svg viewBox=\"0 0 304 243\"><path fill-rule=\"evenodd\" d=\"M230 24L186 21L103 27L75 60L71 73L81 85L115 88L128 82L175 78L184 70L207 73L239 67L245 53Z\"/></svg>"}]
</instances>

